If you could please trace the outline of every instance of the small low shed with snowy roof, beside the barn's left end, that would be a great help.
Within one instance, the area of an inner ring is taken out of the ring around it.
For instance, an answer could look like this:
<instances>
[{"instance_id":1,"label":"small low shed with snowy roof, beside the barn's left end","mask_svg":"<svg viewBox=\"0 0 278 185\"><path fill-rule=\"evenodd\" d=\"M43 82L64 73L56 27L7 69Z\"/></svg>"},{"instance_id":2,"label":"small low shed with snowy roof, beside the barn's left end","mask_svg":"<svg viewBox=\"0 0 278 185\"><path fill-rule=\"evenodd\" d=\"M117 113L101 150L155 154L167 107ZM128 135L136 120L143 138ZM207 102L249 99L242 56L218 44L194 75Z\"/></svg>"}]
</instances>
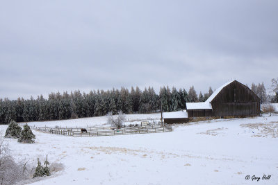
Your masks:
<instances>
[{"instance_id":1,"label":"small low shed with snowy roof, beside the barn's left end","mask_svg":"<svg viewBox=\"0 0 278 185\"><path fill-rule=\"evenodd\" d=\"M168 124L187 123L188 122L188 114L186 111L163 112L163 120L164 120L164 123L168 123Z\"/></svg>"}]
</instances>

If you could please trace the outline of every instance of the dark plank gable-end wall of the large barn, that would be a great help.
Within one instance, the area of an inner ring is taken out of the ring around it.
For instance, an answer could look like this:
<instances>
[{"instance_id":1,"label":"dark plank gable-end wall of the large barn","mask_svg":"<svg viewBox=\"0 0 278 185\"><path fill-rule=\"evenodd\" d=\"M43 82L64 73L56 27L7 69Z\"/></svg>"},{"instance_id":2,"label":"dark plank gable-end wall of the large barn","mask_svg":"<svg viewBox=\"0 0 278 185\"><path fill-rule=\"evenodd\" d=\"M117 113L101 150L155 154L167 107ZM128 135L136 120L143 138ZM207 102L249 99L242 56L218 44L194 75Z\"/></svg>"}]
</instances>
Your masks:
<instances>
[{"instance_id":1,"label":"dark plank gable-end wall of the large barn","mask_svg":"<svg viewBox=\"0 0 278 185\"><path fill-rule=\"evenodd\" d=\"M215 116L256 116L260 114L260 99L240 82L227 85L212 100Z\"/></svg>"}]
</instances>

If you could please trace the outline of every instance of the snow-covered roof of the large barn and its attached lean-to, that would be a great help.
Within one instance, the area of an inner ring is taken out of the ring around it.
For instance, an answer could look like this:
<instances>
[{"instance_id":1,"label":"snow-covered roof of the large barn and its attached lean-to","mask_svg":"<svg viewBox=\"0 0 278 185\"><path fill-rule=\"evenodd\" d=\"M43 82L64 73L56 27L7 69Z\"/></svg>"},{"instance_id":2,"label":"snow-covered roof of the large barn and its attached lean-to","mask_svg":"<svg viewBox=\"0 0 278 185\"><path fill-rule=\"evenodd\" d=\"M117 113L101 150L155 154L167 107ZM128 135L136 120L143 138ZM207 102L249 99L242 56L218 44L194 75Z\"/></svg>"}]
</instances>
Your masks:
<instances>
[{"instance_id":1,"label":"snow-covered roof of the large barn and its attached lean-to","mask_svg":"<svg viewBox=\"0 0 278 185\"><path fill-rule=\"evenodd\" d=\"M190 110L190 109L212 109L211 106L211 101L215 98L215 96L218 95L218 93L227 85L229 85L231 82L234 81L230 81L225 83L224 85L222 85L221 87L219 87L218 89L216 89L213 94L211 94L211 96L209 96L209 98L205 101L205 102L199 102L199 103L186 103L186 109Z\"/></svg>"}]
</instances>

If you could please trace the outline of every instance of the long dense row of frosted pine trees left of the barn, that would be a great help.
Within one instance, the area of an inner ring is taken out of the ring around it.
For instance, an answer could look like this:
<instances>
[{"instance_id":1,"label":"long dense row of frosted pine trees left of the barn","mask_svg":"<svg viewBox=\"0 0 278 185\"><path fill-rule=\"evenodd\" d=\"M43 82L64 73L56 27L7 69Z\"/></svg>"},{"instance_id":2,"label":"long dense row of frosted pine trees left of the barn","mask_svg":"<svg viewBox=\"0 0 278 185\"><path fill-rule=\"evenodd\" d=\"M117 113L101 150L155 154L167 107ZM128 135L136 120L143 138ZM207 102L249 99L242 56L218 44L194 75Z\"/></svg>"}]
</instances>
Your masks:
<instances>
[{"instance_id":1,"label":"long dense row of frosted pine trees left of the barn","mask_svg":"<svg viewBox=\"0 0 278 185\"><path fill-rule=\"evenodd\" d=\"M81 94L74 91L70 94L51 93L49 98L42 95L37 99L17 98L17 100L0 99L0 123L10 121L51 121L69 118L84 118L92 116L104 116L108 112L124 114L158 112L161 107L164 112L185 109L186 102L203 102L213 93L211 87L208 93L199 93L197 96L194 87L177 90L175 87L161 87L156 94L153 87L143 91L131 87L131 91L122 89L90 91Z\"/></svg>"}]
</instances>

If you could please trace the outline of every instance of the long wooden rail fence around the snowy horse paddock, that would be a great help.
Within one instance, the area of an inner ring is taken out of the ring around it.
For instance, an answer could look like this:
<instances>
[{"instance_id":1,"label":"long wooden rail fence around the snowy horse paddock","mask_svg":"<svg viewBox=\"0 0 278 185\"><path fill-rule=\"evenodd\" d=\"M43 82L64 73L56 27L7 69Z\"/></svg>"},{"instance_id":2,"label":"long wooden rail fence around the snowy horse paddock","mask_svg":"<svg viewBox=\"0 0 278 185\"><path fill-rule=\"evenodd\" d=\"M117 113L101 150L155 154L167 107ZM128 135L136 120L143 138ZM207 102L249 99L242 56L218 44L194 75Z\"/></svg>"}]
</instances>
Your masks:
<instances>
[{"instance_id":1,"label":"long wooden rail fence around the snowy horse paddock","mask_svg":"<svg viewBox=\"0 0 278 185\"><path fill-rule=\"evenodd\" d=\"M161 125L147 125L141 127L86 127L87 132L81 132L81 128L72 127L34 127L35 130L40 132L47 132L51 134L60 134L65 136L115 136L124 134L147 134L158 132L172 132L171 126Z\"/></svg>"}]
</instances>

